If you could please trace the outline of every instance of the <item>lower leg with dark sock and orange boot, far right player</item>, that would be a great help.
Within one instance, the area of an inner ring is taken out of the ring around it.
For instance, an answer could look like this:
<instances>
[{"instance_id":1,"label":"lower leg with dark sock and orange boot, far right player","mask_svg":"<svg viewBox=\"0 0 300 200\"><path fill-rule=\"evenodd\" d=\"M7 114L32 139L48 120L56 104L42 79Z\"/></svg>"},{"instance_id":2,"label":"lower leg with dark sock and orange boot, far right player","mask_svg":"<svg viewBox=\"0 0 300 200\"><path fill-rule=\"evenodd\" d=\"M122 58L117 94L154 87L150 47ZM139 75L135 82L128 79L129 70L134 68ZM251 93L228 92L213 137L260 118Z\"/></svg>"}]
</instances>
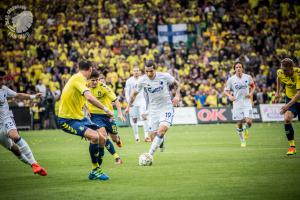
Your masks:
<instances>
[{"instance_id":1,"label":"lower leg with dark sock and orange boot, far right player","mask_svg":"<svg viewBox=\"0 0 300 200\"><path fill-rule=\"evenodd\" d=\"M290 147L288 148L288 151L286 155L291 156L296 154L296 146L295 146L295 140L294 140L294 128L292 126L292 120L293 120L293 113L291 111L287 111L284 114L284 130L287 137L287 140L289 142Z\"/></svg>"}]
</instances>

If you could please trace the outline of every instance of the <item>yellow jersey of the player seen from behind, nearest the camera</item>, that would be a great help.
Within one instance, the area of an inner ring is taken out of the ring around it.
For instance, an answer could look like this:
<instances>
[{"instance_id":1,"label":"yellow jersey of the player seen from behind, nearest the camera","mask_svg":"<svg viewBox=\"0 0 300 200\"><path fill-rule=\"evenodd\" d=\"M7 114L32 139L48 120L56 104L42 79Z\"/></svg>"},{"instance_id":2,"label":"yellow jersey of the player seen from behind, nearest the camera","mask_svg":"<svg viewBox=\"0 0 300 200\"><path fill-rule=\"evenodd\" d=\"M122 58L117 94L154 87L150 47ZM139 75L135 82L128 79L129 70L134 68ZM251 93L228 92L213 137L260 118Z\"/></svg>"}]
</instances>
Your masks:
<instances>
[{"instance_id":1,"label":"yellow jersey of the player seen from behind, nearest the camera","mask_svg":"<svg viewBox=\"0 0 300 200\"><path fill-rule=\"evenodd\" d=\"M62 91L58 117L79 120L84 118L82 108L86 99L83 93L89 90L86 84L87 80L81 73L70 78Z\"/></svg>"}]
</instances>

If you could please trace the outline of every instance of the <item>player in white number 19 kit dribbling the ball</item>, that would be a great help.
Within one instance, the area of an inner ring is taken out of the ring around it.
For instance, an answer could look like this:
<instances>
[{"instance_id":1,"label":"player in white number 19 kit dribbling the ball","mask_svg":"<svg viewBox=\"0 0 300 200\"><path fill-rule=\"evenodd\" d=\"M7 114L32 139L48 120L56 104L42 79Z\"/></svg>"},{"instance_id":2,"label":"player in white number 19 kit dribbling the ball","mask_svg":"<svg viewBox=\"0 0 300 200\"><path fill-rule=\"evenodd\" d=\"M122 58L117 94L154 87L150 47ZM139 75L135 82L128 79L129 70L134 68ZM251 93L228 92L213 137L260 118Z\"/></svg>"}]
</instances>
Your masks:
<instances>
[{"instance_id":1,"label":"player in white number 19 kit dribbling the ball","mask_svg":"<svg viewBox=\"0 0 300 200\"><path fill-rule=\"evenodd\" d=\"M176 95L171 99L169 86L174 85ZM130 96L129 103L125 109L125 114L130 111L136 96L141 91L145 92L145 98L148 108L149 131L151 135L155 134L152 141L149 154L154 155L155 151L162 144L164 135L172 125L174 116L174 106L178 105L180 99L179 82L168 73L156 72L156 66L153 62L148 62L145 66L145 75L139 79L136 89Z\"/></svg>"}]
</instances>

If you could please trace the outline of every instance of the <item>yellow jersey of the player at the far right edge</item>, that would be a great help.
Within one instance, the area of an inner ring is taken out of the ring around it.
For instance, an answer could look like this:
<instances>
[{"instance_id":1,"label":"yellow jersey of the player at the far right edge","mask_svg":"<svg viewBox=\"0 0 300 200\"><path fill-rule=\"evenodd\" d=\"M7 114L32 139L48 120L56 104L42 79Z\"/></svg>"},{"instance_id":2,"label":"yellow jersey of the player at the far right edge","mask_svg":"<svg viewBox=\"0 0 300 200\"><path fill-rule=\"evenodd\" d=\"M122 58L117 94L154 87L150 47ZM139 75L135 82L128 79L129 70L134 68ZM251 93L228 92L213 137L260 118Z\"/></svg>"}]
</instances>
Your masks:
<instances>
[{"instance_id":1,"label":"yellow jersey of the player at the far right edge","mask_svg":"<svg viewBox=\"0 0 300 200\"><path fill-rule=\"evenodd\" d=\"M285 85L285 94L290 99L296 95L297 90L300 90L300 69L294 67L293 71L292 76L286 76L282 69L277 70L277 77L280 83Z\"/></svg>"}]
</instances>

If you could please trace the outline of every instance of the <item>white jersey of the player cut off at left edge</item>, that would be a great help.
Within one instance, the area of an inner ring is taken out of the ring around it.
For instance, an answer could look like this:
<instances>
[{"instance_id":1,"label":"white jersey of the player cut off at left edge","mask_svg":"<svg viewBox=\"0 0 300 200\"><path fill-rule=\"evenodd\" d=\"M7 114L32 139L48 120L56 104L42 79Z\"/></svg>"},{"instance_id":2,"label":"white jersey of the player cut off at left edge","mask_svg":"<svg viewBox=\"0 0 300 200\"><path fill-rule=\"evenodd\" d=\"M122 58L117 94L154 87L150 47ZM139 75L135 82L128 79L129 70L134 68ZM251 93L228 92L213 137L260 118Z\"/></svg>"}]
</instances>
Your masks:
<instances>
[{"instance_id":1,"label":"white jersey of the player cut off at left edge","mask_svg":"<svg viewBox=\"0 0 300 200\"><path fill-rule=\"evenodd\" d=\"M7 103L7 97L15 97L17 93L6 86L0 88L0 123L4 119L13 117L12 112L9 110L9 105Z\"/></svg>"}]
</instances>

